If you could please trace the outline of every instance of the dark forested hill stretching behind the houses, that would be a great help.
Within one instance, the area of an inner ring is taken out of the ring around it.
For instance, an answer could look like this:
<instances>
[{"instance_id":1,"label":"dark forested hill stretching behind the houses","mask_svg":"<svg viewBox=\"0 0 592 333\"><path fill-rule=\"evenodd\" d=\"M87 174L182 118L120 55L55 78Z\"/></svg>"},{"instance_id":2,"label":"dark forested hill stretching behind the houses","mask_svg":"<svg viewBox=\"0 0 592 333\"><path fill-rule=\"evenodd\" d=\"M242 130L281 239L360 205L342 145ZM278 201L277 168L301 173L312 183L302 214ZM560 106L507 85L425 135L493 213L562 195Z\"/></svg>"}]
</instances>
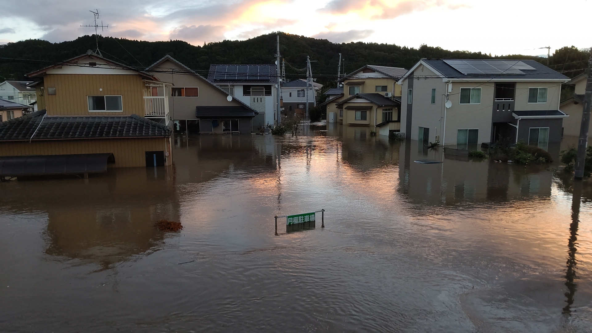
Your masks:
<instances>
[{"instance_id":1,"label":"dark forested hill stretching behind the houses","mask_svg":"<svg viewBox=\"0 0 592 333\"><path fill-rule=\"evenodd\" d=\"M256 64L275 62L276 34L266 34L249 40L224 40L204 46L193 46L185 41L138 41L99 37L99 49L104 57L138 68L145 68L169 54L202 75L207 74L210 64ZM0 82L26 79L25 73L43 68L50 63L60 62L94 50L94 36L83 36L62 43L44 40L24 40L0 45ZM546 65L547 59L533 56L511 55L491 56L481 52L449 51L440 47L423 45L419 49L401 47L395 44L377 43L332 43L328 40L280 33L280 52L289 65L305 68L306 56L314 60L312 67L317 82L329 88L337 74L339 53L345 59L345 72L351 72L363 65L379 65L411 68L421 58L457 59L535 59ZM9 59L7 59L9 58ZM28 60L11 60L28 59ZM31 61L41 60L41 61ZM575 76L585 67L587 53L564 47L549 59L551 68ZM566 64L567 63L567 64ZM303 77L286 65L288 79Z\"/></svg>"}]
</instances>

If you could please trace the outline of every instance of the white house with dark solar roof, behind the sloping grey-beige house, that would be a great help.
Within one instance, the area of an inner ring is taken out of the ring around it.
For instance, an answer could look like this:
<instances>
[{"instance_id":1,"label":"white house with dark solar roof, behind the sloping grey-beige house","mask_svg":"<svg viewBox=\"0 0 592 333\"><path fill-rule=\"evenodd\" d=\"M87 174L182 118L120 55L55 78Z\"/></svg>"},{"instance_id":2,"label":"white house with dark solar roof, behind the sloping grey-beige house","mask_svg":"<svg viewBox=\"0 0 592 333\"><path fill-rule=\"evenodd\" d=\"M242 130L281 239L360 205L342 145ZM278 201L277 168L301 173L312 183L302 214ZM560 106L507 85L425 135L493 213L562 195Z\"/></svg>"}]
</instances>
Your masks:
<instances>
[{"instance_id":1,"label":"white house with dark solar roof, behind the sloping grey-beige house","mask_svg":"<svg viewBox=\"0 0 592 333\"><path fill-rule=\"evenodd\" d=\"M253 118L257 130L276 121L276 71L275 65L210 65L208 81L258 111Z\"/></svg>"}]
</instances>

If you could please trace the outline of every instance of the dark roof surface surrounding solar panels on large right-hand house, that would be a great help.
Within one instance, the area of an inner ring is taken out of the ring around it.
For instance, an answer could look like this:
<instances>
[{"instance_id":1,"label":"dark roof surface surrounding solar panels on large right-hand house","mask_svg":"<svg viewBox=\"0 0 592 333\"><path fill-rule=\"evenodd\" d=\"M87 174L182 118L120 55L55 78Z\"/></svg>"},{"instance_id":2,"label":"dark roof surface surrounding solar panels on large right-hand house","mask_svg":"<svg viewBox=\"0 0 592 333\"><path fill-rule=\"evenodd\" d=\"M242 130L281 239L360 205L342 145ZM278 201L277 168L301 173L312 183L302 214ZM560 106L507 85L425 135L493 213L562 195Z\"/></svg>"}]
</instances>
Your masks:
<instances>
[{"instance_id":1,"label":"dark roof surface surrounding solar panels on large right-hand house","mask_svg":"<svg viewBox=\"0 0 592 333\"><path fill-rule=\"evenodd\" d=\"M545 65L542 65L535 60L520 60L526 65L532 66L535 68L534 70L524 71L524 74L463 74L456 69L454 69L451 65L444 62L444 60L459 60L459 59L422 59L428 65L432 66L436 71L442 73L446 78L451 79L493 79L493 78L507 78L507 79L568 79L567 76L555 72L551 68L548 68ZM471 60L479 60L479 59L462 59L466 62L470 62Z\"/></svg>"}]
</instances>

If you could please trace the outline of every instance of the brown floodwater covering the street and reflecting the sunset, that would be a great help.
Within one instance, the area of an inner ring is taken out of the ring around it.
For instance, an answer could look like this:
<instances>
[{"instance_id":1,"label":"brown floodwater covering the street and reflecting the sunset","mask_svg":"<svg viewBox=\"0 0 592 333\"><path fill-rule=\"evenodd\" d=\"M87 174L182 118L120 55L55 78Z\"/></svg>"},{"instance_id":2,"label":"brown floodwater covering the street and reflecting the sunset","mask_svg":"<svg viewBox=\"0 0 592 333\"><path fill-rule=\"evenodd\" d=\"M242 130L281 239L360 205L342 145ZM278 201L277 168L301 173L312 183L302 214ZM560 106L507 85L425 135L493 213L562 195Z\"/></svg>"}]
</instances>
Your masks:
<instances>
[{"instance_id":1,"label":"brown floodwater covering the street and reflecting the sunset","mask_svg":"<svg viewBox=\"0 0 592 333\"><path fill-rule=\"evenodd\" d=\"M590 181L367 131L179 136L174 168L0 183L0 331L592 331Z\"/></svg>"}]
</instances>

